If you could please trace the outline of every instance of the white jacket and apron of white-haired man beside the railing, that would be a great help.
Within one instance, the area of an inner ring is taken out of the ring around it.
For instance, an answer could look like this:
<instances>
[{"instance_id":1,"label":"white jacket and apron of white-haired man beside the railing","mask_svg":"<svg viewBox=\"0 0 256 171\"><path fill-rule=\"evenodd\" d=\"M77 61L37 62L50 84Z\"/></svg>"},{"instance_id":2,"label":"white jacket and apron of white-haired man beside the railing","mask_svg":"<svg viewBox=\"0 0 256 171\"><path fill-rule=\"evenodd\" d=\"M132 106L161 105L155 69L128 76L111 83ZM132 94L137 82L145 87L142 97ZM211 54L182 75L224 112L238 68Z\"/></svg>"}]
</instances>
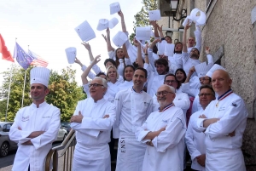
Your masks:
<instances>
[{"instance_id":1,"label":"white jacket and apron of white-haired man beside the railing","mask_svg":"<svg viewBox=\"0 0 256 171\"><path fill-rule=\"evenodd\" d=\"M110 131L115 121L115 107L107 100L92 98L79 101L74 115L83 115L82 123L71 123L71 128L76 131L77 145L74 151L73 170L79 170L84 165L90 170L98 170L98 166L90 165L88 161L98 161L98 165L110 165L108 142L110 142ZM109 115L108 118L103 118ZM83 163L84 160L85 162ZM89 163L87 165L86 163ZM79 168L78 168L79 167ZM102 168L101 170L108 170ZM109 170L110 171L110 170Z\"/></svg>"}]
</instances>

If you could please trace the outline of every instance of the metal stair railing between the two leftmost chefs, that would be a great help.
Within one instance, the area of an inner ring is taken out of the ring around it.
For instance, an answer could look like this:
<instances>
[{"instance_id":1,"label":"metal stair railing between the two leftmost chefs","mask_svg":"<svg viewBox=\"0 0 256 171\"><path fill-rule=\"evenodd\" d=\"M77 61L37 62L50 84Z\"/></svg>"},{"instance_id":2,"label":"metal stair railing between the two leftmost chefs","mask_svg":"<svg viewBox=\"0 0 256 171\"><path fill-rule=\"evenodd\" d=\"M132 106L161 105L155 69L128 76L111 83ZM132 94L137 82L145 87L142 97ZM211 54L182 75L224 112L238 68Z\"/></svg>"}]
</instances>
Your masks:
<instances>
[{"instance_id":1,"label":"metal stair railing between the two leftmost chefs","mask_svg":"<svg viewBox=\"0 0 256 171\"><path fill-rule=\"evenodd\" d=\"M67 137L61 145L53 147L46 156L45 171L50 170L51 158L53 159L52 171L58 171L58 159L64 157L63 171L70 171L72 168L73 151L76 144L75 131L73 129L67 134ZM58 151L61 151L61 155L58 156Z\"/></svg>"}]
</instances>

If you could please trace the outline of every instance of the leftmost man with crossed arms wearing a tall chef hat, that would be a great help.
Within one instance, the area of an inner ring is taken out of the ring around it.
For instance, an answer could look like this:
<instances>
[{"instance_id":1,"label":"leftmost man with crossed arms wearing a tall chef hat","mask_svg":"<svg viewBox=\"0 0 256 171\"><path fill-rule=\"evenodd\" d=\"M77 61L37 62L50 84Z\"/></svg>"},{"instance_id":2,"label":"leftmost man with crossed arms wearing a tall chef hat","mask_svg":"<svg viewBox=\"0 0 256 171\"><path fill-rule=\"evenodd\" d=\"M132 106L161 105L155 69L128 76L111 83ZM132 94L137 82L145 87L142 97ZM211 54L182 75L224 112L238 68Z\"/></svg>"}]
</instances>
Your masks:
<instances>
[{"instance_id":1,"label":"leftmost man with crossed arms wearing a tall chef hat","mask_svg":"<svg viewBox=\"0 0 256 171\"><path fill-rule=\"evenodd\" d=\"M60 128L60 110L45 102L49 94L49 69L35 67L30 71L32 105L17 112L9 138L18 143L13 171L44 170L45 157Z\"/></svg>"}]
</instances>

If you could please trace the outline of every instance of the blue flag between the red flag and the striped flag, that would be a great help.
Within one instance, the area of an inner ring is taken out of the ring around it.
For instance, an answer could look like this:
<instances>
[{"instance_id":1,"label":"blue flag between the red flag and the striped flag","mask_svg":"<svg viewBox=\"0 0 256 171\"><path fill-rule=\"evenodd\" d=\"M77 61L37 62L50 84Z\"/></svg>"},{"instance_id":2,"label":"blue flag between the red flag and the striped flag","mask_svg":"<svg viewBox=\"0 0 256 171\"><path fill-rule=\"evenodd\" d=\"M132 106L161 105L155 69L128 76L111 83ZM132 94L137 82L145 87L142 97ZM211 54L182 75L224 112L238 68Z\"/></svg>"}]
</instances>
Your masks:
<instances>
[{"instance_id":1,"label":"blue flag between the red flag and the striped flag","mask_svg":"<svg viewBox=\"0 0 256 171\"><path fill-rule=\"evenodd\" d=\"M15 44L14 57L20 64L20 66L24 68L24 70L26 70L28 66L30 66L30 64L32 63L32 60L34 60L34 58L31 55L27 54L18 43Z\"/></svg>"}]
</instances>

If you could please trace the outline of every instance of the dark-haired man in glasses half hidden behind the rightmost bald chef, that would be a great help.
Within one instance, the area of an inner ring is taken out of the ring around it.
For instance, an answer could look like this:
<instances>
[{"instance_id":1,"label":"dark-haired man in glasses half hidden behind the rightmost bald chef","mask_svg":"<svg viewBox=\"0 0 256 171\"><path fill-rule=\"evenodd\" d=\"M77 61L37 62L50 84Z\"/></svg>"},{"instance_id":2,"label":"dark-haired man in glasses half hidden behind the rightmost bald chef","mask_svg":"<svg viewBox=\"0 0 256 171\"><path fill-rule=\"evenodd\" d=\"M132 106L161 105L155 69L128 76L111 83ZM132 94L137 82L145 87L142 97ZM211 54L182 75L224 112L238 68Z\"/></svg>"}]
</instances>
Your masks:
<instances>
[{"instance_id":1,"label":"dark-haired man in glasses half hidden behind the rightmost bald chef","mask_svg":"<svg viewBox=\"0 0 256 171\"><path fill-rule=\"evenodd\" d=\"M209 85L202 85L198 94L202 110L196 111L189 119L189 126L186 132L185 141L191 157L191 168L195 170L206 170L206 145L204 133L198 133L192 128L201 113L206 109L212 100L215 100L215 92Z\"/></svg>"}]
</instances>

